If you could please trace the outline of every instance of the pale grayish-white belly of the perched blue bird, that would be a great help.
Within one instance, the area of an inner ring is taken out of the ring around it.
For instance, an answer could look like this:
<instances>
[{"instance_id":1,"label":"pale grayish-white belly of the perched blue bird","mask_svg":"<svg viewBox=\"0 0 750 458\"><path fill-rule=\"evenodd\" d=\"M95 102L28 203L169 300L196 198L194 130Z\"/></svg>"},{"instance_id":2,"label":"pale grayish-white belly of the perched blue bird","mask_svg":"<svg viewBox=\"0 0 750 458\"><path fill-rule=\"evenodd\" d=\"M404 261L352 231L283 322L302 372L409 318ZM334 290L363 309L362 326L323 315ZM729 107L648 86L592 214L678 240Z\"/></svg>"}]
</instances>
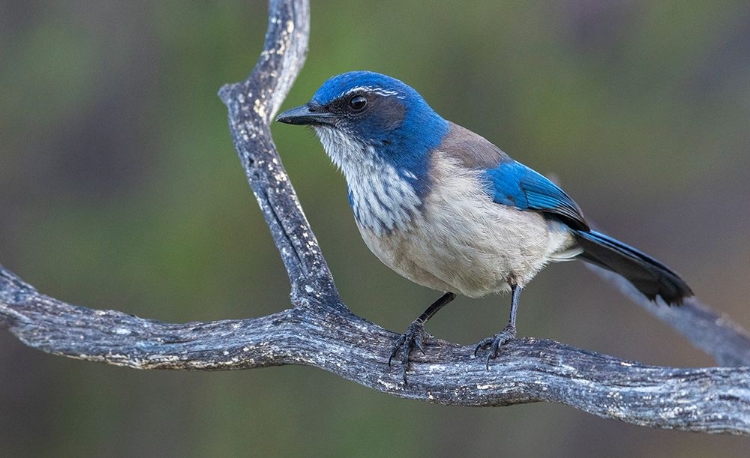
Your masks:
<instances>
[{"instance_id":1,"label":"pale grayish-white belly of the perched blue bird","mask_svg":"<svg viewBox=\"0 0 750 458\"><path fill-rule=\"evenodd\" d=\"M574 243L567 227L541 214L490 199L458 202L427 202L433 211L387 234L360 227L362 238L384 264L413 282L469 297L507 291L510 282L524 286Z\"/></svg>"}]
</instances>

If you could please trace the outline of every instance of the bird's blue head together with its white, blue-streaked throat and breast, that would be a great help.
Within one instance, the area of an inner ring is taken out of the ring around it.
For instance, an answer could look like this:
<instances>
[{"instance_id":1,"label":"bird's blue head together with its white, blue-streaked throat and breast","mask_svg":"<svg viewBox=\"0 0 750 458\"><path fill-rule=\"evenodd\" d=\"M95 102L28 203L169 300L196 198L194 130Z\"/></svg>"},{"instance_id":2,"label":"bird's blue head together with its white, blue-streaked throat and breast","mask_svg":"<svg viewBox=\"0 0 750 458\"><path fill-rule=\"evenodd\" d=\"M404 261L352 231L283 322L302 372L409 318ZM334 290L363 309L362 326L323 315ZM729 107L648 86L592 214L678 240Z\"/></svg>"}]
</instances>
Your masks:
<instances>
[{"instance_id":1,"label":"bird's blue head together with its white, blue-streaked throat and breast","mask_svg":"<svg viewBox=\"0 0 750 458\"><path fill-rule=\"evenodd\" d=\"M344 172L357 221L377 233L419 211L430 187L431 153L449 130L417 91L365 71L334 76L278 120L315 130Z\"/></svg>"}]
</instances>

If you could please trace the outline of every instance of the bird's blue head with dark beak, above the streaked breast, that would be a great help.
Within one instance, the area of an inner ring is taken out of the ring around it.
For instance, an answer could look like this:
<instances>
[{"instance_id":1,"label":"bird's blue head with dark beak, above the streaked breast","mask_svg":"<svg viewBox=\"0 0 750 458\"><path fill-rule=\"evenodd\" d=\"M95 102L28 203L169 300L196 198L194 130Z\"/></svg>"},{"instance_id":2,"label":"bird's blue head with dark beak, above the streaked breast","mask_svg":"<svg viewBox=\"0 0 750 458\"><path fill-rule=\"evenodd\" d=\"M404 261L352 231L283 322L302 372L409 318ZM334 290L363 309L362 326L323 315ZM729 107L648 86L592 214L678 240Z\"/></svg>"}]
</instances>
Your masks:
<instances>
[{"instance_id":1,"label":"bird's blue head with dark beak, above the streaked breast","mask_svg":"<svg viewBox=\"0 0 750 458\"><path fill-rule=\"evenodd\" d=\"M426 172L430 152L448 132L447 121L417 91L366 71L332 77L310 102L277 120L311 126L347 180L372 163L407 174Z\"/></svg>"}]
</instances>

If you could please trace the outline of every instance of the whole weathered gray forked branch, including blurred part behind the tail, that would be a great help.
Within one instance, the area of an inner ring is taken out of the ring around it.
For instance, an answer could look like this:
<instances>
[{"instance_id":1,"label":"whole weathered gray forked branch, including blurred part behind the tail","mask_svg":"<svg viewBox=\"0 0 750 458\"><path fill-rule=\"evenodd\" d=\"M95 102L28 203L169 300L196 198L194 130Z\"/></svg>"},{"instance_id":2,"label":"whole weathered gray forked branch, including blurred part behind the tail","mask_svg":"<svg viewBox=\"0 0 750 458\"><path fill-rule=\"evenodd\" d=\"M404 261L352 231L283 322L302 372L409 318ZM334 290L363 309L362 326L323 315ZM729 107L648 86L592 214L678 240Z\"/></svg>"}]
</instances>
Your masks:
<instances>
[{"instance_id":1,"label":"whole weathered gray forked branch, including blurred part behind the tail","mask_svg":"<svg viewBox=\"0 0 750 458\"><path fill-rule=\"evenodd\" d=\"M652 427L750 434L747 367L654 367L549 340L519 339L504 347L487 371L471 347L430 339L404 385L400 368L386 364L396 334L355 316L341 302L271 140L268 124L304 62L309 9L303 0L270 5L258 64L246 81L225 86L220 96L248 181L289 273L293 307L255 319L169 324L66 304L0 266L0 326L42 351L138 369L301 364L396 396L442 404L557 402ZM626 288L616 277L608 279ZM706 306L643 302L722 364L750 365L747 334Z\"/></svg>"}]
</instances>

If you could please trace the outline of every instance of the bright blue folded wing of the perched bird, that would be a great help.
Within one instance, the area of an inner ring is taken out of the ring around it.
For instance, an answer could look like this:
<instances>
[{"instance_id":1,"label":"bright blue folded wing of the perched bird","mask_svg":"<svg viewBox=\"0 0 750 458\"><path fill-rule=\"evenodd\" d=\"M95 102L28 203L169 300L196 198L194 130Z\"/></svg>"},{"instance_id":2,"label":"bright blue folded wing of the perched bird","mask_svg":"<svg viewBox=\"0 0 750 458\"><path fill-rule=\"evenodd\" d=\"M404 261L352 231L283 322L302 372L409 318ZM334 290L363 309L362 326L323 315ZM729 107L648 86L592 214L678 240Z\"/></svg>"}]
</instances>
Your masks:
<instances>
[{"instance_id":1,"label":"bright blue folded wing of the perched bird","mask_svg":"<svg viewBox=\"0 0 750 458\"><path fill-rule=\"evenodd\" d=\"M578 204L543 175L514 160L487 170L494 201L555 215L573 229L589 230Z\"/></svg>"}]
</instances>

